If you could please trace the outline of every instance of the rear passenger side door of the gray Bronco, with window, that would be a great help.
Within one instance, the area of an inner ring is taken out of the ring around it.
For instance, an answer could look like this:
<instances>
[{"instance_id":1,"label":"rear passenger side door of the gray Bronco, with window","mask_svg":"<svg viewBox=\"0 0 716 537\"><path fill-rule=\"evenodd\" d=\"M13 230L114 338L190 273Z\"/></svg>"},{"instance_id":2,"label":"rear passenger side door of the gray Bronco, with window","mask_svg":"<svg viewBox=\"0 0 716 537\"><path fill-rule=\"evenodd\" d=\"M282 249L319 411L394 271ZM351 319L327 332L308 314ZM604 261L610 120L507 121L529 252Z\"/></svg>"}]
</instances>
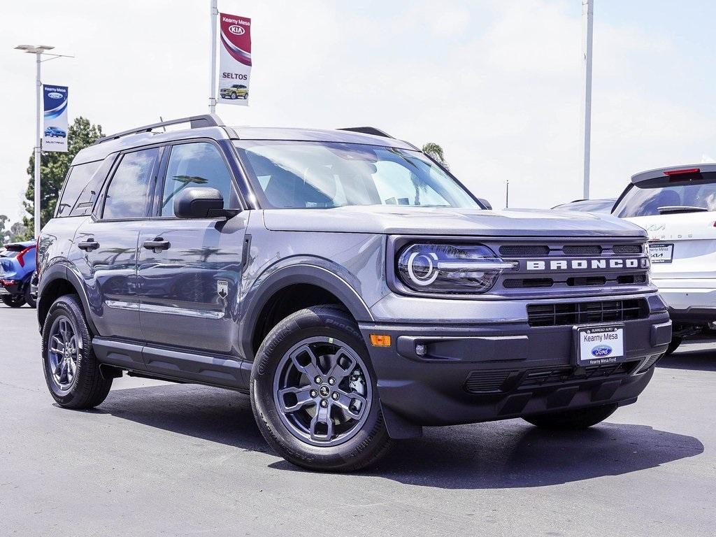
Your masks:
<instances>
[{"instance_id":1,"label":"rear passenger side door of the gray Bronco, with window","mask_svg":"<svg viewBox=\"0 0 716 537\"><path fill-rule=\"evenodd\" d=\"M100 335L142 340L137 242L153 207L160 147L119 155L95 213L77 229L71 256Z\"/></svg>"}]
</instances>

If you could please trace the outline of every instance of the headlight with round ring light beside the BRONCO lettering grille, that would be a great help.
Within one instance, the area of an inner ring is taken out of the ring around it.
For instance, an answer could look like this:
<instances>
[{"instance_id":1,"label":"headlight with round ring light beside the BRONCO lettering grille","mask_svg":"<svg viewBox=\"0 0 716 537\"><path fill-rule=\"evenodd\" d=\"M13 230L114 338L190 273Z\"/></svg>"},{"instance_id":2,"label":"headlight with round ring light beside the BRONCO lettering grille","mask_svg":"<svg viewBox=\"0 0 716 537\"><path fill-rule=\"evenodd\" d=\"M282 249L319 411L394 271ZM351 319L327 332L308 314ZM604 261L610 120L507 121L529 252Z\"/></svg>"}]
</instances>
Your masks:
<instances>
[{"instance_id":1,"label":"headlight with round ring light beside the BRONCO lettering grille","mask_svg":"<svg viewBox=\"0 0 716 537\"><path fill-rule=\"evenodd\" d=\"M516 269L487 246L417 243L398 258L400 281L413 291L430 293L485 293L504 270Z\"/></svg>"}]
</instances>

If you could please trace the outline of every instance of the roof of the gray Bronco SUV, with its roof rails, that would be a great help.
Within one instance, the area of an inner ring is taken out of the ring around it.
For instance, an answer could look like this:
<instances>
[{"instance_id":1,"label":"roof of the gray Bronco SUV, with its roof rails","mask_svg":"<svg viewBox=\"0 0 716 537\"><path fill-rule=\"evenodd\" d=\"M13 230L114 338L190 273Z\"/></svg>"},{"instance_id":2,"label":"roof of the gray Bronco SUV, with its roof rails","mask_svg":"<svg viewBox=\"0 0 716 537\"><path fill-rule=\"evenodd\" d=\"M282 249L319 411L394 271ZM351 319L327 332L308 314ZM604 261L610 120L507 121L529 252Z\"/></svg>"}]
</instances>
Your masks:
<instances>
[{"instance_id":1,"label":"roof of the gray Bronco SUV, with its roof rails","mask_svg":"<svg viewBox=\"0 0 716 537\"><path fill-rule=\"evenodd\" d=\"M194 128L163 131L164 125L176 125L194 120ZM197 121L198 120L198 121ZM210 125L210 126L198 126ZM359 127L369 129L369 127ZM370 129L380 132L377 129ZM135 130L119 132L106 136L94 145L85 147L77 153L73 165L104 160L107 155L117 151L142 147L155 143L173 142L175 140L190 140L193 138L211 138L213 140L299 140L307 142L340 142L368 145L381 145L384 147L398 147L400 149L417 149L414 145L396 140L389 136L366 134L349 130L320 130L283 127L226 127L221 120L213 115L194 116L183 120L170 120L153 125L137 127Z\"/></svg>"}]
</instances>

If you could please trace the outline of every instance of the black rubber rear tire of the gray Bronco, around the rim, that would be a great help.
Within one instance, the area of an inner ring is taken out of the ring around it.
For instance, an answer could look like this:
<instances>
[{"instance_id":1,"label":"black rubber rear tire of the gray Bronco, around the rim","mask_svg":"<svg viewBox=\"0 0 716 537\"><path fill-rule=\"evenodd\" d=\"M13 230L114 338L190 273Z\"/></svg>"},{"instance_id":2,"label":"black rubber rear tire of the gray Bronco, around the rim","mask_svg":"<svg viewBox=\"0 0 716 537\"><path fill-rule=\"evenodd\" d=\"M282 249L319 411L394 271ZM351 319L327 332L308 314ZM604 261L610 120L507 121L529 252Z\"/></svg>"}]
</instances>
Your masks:
<instances>
[{"instance_id":1,"label":"black rubber rear tire of the gray Bronco, around the rim","mask_svg":"<svg viewBox=\"0 0 716 537\"><path fill-rule=\"evenodd\" d=\"M72 381L62 386L54 378L51 366L50 335L56 322L68 321L76 330L76 360ZM57 404L65 408L92 408L105 400L112 387L112 378L102 377L100 363L92 349L92 334L84 319L84 311L75 295L63 295L54 301L42 326L42 367L45 380Z\"/></svg>"}]
</instances>

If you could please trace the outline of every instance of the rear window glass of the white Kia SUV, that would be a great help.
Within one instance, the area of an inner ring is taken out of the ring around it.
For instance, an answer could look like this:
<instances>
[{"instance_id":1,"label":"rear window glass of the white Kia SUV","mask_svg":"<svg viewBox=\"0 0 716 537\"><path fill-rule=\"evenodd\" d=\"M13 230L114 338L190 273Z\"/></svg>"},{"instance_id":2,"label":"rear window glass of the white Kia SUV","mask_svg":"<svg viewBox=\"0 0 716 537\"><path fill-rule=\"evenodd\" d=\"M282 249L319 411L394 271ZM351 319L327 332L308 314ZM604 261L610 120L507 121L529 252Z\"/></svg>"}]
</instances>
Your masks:
<instances>
[{"instance_id":1,"label":"rear window glass of the white Kia SUV","mask_svg":"<svg viewBox=\"0 0 716 537\"><path fill-rule=\"evenodd\" d=\"M669 208L678 207L716 211L716 173L700 173L692 177L654 178L630 185L614 214L621 218L654 216L673 213Z\"/></svg>"}]
</instances>

